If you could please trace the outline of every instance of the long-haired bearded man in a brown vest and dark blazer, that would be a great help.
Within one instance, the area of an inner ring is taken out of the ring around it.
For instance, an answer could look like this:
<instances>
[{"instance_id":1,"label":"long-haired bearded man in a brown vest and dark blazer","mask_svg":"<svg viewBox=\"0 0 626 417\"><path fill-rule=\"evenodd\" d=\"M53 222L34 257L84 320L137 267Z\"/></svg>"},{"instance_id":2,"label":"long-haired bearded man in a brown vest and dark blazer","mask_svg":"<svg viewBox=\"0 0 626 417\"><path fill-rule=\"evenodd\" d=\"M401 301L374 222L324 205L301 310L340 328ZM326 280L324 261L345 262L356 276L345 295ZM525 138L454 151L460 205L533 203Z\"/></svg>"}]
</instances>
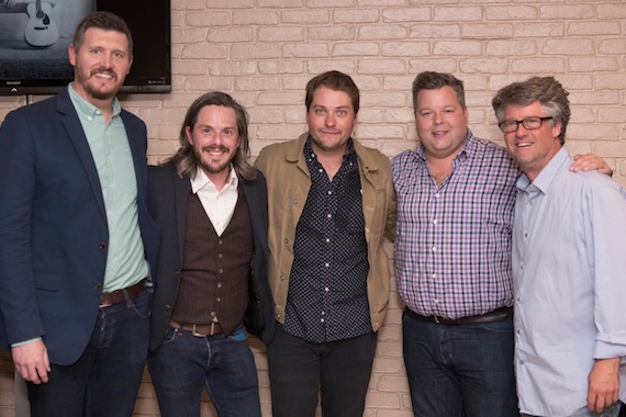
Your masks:
<instances>
[{"instance_id":1,"label":"long-haired bearded man in a brown vest and dark blazer","mask_svg":"<svg viewBox=\"0 0 626 417\"><path fill-rule=\"evenodd\" d=\"M179 140L148 176L148 206L163 232L148 358L160 413L199 417L205 387L220 416L260 416L246 335L259 329L244 325L244 314L260 298L268 341L273 303L267 189L247 162L246 112L226 93L205 93L187 111Z\"/></svg>"}]
</instances>

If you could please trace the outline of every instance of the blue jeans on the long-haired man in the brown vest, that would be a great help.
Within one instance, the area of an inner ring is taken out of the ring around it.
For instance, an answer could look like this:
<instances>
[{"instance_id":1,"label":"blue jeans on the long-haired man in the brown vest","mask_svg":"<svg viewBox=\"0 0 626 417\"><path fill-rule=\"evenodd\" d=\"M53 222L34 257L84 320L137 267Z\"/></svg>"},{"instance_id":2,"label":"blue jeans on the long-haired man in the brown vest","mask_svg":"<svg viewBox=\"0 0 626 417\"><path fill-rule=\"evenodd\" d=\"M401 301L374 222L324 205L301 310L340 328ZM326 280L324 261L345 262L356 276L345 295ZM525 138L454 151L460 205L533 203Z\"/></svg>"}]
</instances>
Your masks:
<instances>
[{"instance_id":1,"label":"blue jeans on the long-haired man in the brown vest","mask_svg":"<svg viewBox=\"0 0 626 417\"><path fill-rule=\"evenodd\" d=\"M230 336L168 329L148 356L163 417L199 417L202 387L221 417L260 417L257 369L241 325Z\"/></svg>"}]
</instances>

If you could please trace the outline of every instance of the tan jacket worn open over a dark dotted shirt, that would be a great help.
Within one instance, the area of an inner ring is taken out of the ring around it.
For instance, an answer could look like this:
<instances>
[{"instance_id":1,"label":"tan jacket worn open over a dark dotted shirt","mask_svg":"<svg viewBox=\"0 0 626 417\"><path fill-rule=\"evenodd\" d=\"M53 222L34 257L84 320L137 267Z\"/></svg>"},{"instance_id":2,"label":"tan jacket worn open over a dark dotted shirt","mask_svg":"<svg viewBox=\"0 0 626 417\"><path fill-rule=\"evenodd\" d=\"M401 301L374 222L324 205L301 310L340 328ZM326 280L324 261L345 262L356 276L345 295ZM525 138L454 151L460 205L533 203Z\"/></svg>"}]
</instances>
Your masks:
<instances>
[{"instance_id":1,"label":"tan jacket worn open over a dark dotted shirt","mask_svg":"<svg viewBox=\"0 0 626 417\"><path fill-rule=\"evenodd\" d=\"M276 304L275 317L284 324L293 240L298 221L311 188L302 154L308 133L295 140L266 146L255 162L267 180L269 208L269 283ZM389 303L390 267L383 238L393 238L395 194L389 158L354 140L362 189L365 236L368 245L367 291L371 326L378 330ZM314 248L312 248L314 250Z\"/></svg>"}]
</instances>

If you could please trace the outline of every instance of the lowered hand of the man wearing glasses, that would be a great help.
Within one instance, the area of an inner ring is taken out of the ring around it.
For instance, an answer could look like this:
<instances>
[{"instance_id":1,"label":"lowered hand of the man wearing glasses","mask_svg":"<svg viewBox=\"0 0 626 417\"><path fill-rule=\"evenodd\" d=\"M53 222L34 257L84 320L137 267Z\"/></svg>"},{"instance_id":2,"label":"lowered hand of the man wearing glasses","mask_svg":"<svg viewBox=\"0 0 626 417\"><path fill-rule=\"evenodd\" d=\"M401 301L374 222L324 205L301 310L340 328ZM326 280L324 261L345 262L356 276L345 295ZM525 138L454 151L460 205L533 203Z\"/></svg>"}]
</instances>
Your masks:
<instances>
[{"instance_id":1,"label":"lowered hand of the man wearing glasses","mask_svg":"<svg viewBox=\"0 0 626 417\"><path fill-rule=\"evenodd\" d=\"M618 399L619 358L596 359L589 373L586 407L601 414Z\"/></svg>"}]
</instances>

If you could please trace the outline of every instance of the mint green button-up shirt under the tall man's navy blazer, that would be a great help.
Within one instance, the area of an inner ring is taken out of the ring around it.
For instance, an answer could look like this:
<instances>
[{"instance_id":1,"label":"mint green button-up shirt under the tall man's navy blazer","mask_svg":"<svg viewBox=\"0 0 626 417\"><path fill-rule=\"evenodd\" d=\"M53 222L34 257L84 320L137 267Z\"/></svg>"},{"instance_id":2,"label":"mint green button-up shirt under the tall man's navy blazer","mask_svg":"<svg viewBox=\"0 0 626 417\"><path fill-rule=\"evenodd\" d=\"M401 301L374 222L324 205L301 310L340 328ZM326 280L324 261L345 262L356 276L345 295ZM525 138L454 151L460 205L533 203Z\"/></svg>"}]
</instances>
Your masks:
<instances>
[{"instance_id":1,"label":"mint green button-up shirt under the tall man's navy blazer","mask_svg":"<svg viewBox=\"0 0 626 417\"><path fill-rule=\"evenodd\" d=\"M105 124L102 112L82 99L74 83L69 98L87 136L107 210L109 251L103 291L120 290L148 275L138 223L137 179L120 102L113 100L113 116Z\"/></svg>"}]
</instances>

